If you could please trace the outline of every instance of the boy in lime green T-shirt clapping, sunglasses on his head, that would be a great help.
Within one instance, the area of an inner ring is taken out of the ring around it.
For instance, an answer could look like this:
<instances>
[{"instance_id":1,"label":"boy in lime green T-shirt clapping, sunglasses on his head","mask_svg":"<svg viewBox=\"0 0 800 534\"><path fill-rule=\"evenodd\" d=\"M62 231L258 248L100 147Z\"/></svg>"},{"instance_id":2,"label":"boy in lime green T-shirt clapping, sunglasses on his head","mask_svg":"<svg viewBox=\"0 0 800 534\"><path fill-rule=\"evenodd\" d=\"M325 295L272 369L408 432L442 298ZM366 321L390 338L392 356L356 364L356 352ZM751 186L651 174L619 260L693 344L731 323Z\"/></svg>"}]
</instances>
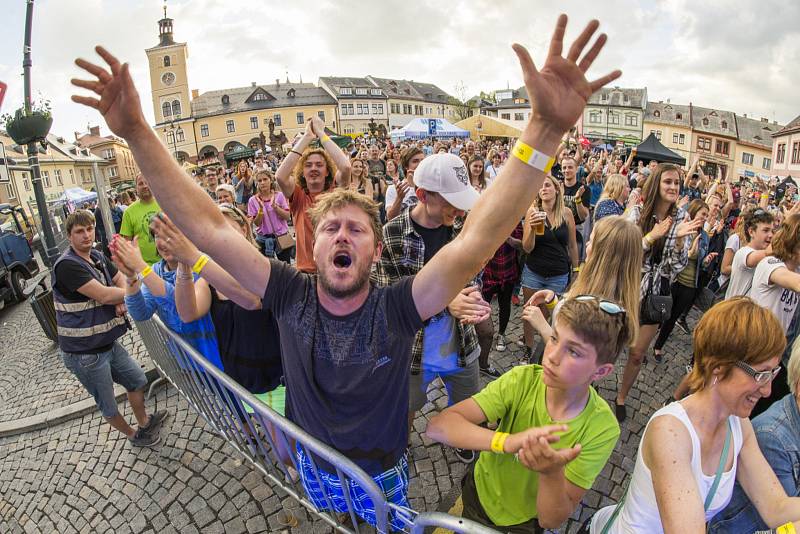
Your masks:
<instances>
[{"instance_id":1,"label":"boy in lime green T-shirt clapping, sunglasses on his head","mask_svg":"<svg viewBox=\"0 0 800 534\"><path fill-rule=\"evenodd\" d=\"M430 438L484 451L462 482L464 517L516 533L557 528L572 514L619 438L591 383L632 340L616 303L567 299L541 366L515 367L431 419ZM480 426L498 420L496 432Z\"/></svg>"}]
</instances>

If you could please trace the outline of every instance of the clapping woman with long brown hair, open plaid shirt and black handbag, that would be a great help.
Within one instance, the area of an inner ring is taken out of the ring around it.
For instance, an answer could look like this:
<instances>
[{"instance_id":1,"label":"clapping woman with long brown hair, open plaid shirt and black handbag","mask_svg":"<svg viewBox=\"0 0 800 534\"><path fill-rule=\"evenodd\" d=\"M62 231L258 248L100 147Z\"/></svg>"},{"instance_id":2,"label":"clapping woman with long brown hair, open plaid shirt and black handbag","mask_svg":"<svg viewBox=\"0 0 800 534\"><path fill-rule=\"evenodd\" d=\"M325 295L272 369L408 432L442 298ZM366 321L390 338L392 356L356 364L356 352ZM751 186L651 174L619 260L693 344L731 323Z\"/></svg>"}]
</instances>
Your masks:
<instances>
[{"instance_id":1,"label":"clapping woman with long brown hair, open plaid shirt and black handbag","mask_svg":"<svg viewBox=\"0 0 800 534\"><path fill-rule=\"evenodd\" d=\"M639 313L639 337L628 353L622 384L614 403L617 419L627 418L625 400L639 376L647 351L658 333L661 321L667 317L654 315L655 305L650 305L651 296L666 296L670 287L689 261L689 247L693 234L702 226L702 221L688 220L685 211L679 211L677 202L680 192L680 169L676 165L662 163L644 184L641 208L634 209L630 216L642 232L642 281L639 288L641 308Z\"/></svg>"}]
</instances>

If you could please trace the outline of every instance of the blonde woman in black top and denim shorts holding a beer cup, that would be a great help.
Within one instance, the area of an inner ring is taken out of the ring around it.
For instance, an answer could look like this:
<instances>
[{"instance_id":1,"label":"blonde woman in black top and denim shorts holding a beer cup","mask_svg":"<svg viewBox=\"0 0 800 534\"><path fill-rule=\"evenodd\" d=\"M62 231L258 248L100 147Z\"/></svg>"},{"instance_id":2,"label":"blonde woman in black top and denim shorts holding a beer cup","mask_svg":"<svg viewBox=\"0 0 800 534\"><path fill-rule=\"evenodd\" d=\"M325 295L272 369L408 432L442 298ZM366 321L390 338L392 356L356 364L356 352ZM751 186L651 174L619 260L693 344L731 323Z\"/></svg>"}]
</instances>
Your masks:
<instances>
[{"instance_id":1,"label":"blonde woman in black top and denim shorts holding a beer cup","mask_svg":"<svg viewBox=\"0 0 800 534\"><path fill-rule=\"evenodd\" d=\"M562 294L569 275L578 266L575 219L564 205L564 192L555 178L546 176L522 225L522 249L528 254L522 269L522 294L527 302L541 289ZM533 350L533 328L523 323L526 357Z\"/></svg>"}]
</instances>

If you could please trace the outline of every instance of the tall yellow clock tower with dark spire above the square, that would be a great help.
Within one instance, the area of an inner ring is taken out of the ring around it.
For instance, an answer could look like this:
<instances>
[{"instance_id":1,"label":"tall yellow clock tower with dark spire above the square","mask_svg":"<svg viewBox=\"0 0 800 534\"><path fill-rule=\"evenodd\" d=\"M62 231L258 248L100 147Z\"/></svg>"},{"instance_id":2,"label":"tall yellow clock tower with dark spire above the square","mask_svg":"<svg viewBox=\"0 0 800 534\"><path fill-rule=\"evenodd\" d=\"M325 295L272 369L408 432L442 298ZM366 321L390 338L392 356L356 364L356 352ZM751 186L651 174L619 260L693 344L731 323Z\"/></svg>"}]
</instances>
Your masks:
<instances>
[{"instance_id":1,"label":"tall yellow clock tower with dark spire above the square","mask_svg":"<svg viewBox=\"0 0 800 534\"><path fill-rule=\"evenodd\" d=\"M158 21L158 45L145 52L150 64L154 128L174 157L187 160L197 156L187 76L189 51L186 43L173 39L172 23L165 5L164 18Z\"/></svg>"}]
</instances>

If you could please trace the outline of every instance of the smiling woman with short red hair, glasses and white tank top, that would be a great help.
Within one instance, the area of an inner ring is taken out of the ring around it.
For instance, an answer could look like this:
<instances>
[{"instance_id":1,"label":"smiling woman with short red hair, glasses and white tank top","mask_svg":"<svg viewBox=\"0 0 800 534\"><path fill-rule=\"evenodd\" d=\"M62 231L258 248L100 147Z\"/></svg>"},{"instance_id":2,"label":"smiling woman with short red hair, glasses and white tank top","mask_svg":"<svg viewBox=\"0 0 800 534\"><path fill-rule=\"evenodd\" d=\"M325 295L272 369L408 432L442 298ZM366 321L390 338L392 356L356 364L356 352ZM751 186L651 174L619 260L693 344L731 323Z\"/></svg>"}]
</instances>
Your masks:
<instances>
[{"instance_id":1,"label":"smiling woman with short red hair, glasses and white tank top","mask_svg":"<svg viewBox=\"0 0 800 534\"><path fill-rule=\"evenodd\" d=\"M594 515L590 532L701 534L734 481L771 528L800 526L800 499L780 486L747 419L769 395L785 345L775 316L748 298L706 312L694 333L695 393L653 414L625 496Z\"/></svg>"}]
</instances>

